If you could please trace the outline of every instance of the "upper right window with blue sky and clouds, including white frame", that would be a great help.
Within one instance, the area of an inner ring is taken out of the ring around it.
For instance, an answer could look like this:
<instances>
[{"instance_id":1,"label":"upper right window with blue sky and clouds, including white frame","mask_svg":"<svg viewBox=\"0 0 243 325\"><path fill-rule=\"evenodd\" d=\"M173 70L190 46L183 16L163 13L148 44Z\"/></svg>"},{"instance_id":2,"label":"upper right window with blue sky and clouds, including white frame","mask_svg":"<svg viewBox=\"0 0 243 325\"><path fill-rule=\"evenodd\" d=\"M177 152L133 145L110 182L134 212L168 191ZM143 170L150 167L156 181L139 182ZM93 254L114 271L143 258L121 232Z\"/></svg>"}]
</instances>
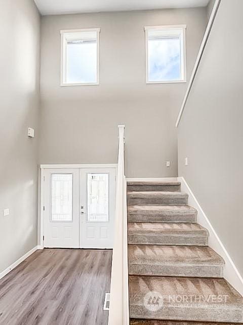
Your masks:
<instances>
[{"instance_id":1,"label":"upper right window with blue sky and clouds, including white frame","mask_svg":"<svg viewBox=\"0 0 243 325\"><path fill-rule=\"evenodd\" d=\"M146 83L186 82L186 26L148 26Z\"/></svg>"}]
</instances>

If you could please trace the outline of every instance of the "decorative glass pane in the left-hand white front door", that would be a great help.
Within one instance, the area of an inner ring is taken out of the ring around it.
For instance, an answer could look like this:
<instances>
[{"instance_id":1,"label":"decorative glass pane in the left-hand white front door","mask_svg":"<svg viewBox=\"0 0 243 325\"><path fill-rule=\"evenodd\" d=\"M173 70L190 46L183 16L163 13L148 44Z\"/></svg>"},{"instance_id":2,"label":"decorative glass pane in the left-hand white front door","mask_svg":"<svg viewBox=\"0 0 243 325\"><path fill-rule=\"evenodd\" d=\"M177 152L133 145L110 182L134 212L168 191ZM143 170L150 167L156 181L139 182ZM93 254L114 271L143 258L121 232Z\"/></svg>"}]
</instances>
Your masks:
<instances>
[{"instance_id":1,"label":"decorative glass pane in the left-hand white front door","mask_svg":"<svg viewBox=\"0 0 243 325\"><path fill-rule=\"evenodd\" d=\"M72 221L72 174L52 174L51 221Z\"/></svg>"}]
</instances>

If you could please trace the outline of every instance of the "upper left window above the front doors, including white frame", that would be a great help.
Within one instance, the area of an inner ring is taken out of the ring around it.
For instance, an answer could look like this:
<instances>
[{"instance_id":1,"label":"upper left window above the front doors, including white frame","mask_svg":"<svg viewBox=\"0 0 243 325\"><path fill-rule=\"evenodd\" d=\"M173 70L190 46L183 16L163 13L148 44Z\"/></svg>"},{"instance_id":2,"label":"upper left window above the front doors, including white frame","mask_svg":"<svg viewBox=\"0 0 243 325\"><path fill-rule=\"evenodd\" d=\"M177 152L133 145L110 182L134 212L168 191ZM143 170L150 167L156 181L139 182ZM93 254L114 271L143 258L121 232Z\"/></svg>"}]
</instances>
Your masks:
<instances>
[{"instance_id":1,"label":"upper left window above the front doors, including white frame","mask_svg":"<svg viewBox=\"0 0 243 325\"><path fill-rule=\"evenodd\" d=\"M61 85L99 84L99 28L61 30Z\"/></svg>"}]
</instances>

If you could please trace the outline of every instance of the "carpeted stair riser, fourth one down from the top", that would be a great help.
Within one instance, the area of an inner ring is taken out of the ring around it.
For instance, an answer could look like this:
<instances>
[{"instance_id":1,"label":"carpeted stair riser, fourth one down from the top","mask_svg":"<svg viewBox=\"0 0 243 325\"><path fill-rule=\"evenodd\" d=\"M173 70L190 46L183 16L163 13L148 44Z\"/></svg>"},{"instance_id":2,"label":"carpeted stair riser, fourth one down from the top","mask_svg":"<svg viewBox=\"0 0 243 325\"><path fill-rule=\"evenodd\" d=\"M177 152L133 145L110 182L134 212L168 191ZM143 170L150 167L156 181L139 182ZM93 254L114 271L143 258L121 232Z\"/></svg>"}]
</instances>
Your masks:
<instances>
[{"instance_id":1,"label":"carpeted stair riser, fourth one down from the top","mask_svg":"<svg viewBox=\"0 0 243 325\"><path fill-rule=\"evenodd\" d=\"M208 246L208 236L171 236L161 235L131 235L128 234L130 245L183 245L183 246Z\"/></svg>"}]
</instances>

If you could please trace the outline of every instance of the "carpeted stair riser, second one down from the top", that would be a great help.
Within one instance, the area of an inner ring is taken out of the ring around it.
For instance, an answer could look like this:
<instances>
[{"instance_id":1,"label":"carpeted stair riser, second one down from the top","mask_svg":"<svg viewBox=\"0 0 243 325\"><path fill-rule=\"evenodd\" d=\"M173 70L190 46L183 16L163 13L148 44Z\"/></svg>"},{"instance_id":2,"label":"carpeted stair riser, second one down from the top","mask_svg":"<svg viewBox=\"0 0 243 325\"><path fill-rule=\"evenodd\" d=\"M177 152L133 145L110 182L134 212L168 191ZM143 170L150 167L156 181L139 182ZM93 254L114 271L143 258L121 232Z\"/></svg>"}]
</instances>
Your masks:
<instances>
[{"instance_id":1,"label":"carpeted stair riser, second one down from the top","mask_svg":"<svg viewBox=\"0 0 243 325\"><path fill-rule=\"evenodd\" d=\"M128 193L128 205L144 205L144 204L152 204L152 205L186 205L187 197L133 197Z\"/></svg>"}]
</instances>

